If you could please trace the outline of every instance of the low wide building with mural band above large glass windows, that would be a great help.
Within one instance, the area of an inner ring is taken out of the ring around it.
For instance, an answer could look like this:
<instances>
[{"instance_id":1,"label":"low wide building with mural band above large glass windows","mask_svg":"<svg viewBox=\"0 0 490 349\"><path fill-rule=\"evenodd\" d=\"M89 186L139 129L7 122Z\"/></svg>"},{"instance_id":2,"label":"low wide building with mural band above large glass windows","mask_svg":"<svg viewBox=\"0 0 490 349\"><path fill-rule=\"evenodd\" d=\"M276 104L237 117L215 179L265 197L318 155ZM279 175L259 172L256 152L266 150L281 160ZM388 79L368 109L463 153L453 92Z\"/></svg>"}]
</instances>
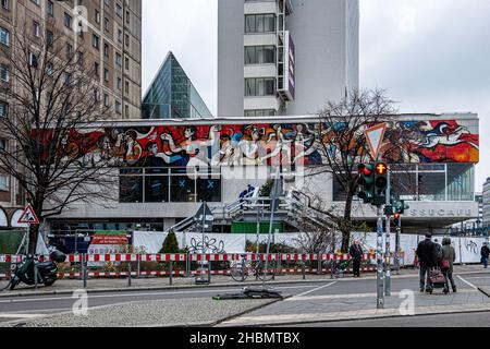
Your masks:
<instances>
[{"instance_id":1,"label":"low wide building with mural band above large glass windows","mask_svg":"<svg viewBox=\"0 0 490 349\"><path fill-rule=\"evenodd\" d=\"M103 143L112 144L113 154L118 154L111 159L113 207L73 205L51 219L54 233L142 227L167 230L194 216L203 202L215 209L217 231L230 232L241 220L230 214L230 207L240 202L248 184L264 185L278 166L284 207L292 192L315 193L340 215L345 204L331 174L308 176L308 171L326 166L318 142L327 142L329 152L339 152L335 140L329 139L328 131L322 132L315 117L122 121L113 131L103 124L98 128L99 131L85 135L93 139L86 143L105 137L108 142ZM400 116L390 124L384 145L397 136L397 130L407 128L412 160L404 164L405 157L400 155L390 165L393 176L400 164L406 165L407 185L396 193L409 205L403 217L404 231L448 232L451 225L477 218L474 193L475 165L479 161L478 117ZM121 133L131 135L132 149L117 143ZM119 147L140 156L128 160ZM82 151L78 156L87 152L99 151ZM297 231L287 219L297 216L297 212L284 215L283 230ZM376 210L356 200L353 219L376 227Z\"/></svg>"}]
</instances>

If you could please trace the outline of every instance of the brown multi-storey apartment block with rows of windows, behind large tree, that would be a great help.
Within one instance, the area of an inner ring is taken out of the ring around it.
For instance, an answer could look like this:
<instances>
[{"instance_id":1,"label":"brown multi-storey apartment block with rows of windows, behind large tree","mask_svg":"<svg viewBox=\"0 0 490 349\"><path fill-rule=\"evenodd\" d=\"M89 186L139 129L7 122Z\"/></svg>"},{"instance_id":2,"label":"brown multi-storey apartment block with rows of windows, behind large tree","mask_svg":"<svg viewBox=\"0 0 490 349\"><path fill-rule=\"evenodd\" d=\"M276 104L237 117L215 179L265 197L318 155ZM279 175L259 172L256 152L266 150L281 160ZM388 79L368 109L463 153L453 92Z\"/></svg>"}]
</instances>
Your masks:
<instances>
[{"instance_id":1,"label":"brown multi-storey apartment block with rows of windows, behind large tree","mask_svg":"<svg viewBox=\"0 0 490 349\"><path fill-rule=\"evenodd\" d=\"M26 32L23 32L26 31ZM32 35L39 43L57 40L62 55L78 52L94 70L98 96L112 119L140 119L142 110L142 2L139 0L7 0L0 5L0 45L2 52L14 55L16 38ZM44 44L41 44L44 45ZM3 55L3 53L2 53ZM62 58L62 57L61 57ZM0 57L1 59L1 57ZM8 67L1 67L2 81L12 88ZM0 96L0 117L9 110L9 100ZM0 147L9 146L0 137ZM12 146L12 145L11 145ZM9 225L15 225L10 212L24 206L14 179L0 173L0 206L5 207Z\"/></svg>"}]
</instances>

